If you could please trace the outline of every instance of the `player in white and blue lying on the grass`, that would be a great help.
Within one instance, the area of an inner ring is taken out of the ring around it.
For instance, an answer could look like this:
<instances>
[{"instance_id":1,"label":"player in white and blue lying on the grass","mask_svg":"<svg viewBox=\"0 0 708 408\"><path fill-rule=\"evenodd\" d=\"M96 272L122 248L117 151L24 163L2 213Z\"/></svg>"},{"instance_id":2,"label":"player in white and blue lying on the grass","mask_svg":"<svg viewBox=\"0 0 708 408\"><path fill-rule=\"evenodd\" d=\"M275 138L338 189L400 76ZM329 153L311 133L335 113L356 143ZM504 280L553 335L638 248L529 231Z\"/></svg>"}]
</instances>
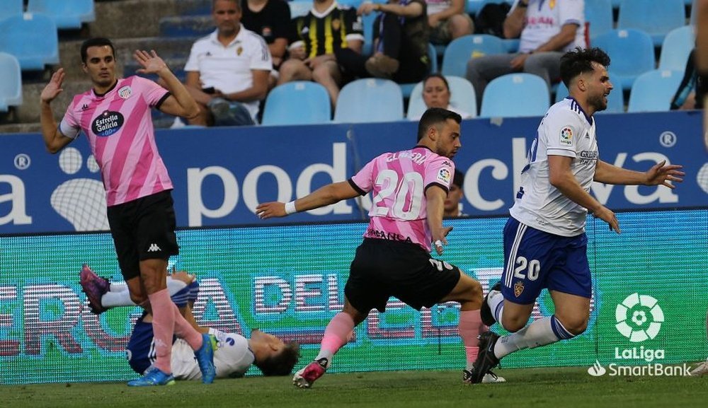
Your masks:
<instances>
[{"instance_id":1,"label":"player in white and blue lying on the grass","mask_svg":"<svg viewBox=\"0 0 708 408\"><path fill-rule=\"evenodd\" d=\"M91 271L88 265L81 270L81 288L89 298L94 313L107 310L102 306L96 311L94 305L105 305L103 298L111 298L125 291L121 284L115 284ZM176 303L185 319L195 329L211 334L217 346L214 351L214 366L217 378L241 377L252 365L258 367L263 375L289 375L299 358L299 345L296 342L285 343L273 334L253 330L251 338L240 334L225 333L209 327L201 327L192 315L192 306L199 292L199 284L194 275L186 272L174 272L168 276L168 289L172 301ZM174 292L173 292L174 291ZM125 299L124 299L125 300ZM122 304L113 306L132 306L135 303L127 298ZM147 371L154 362L154 337L152 333L152 315L144 312L135 322L130 341L127 344L127 358L130 367L139 374ZM172 375L176 380L198 380L201 373L194 359L193 352L182 339L172 344ZM171 382L173 383L173 381Z\"/></svg>"}]
</instances>

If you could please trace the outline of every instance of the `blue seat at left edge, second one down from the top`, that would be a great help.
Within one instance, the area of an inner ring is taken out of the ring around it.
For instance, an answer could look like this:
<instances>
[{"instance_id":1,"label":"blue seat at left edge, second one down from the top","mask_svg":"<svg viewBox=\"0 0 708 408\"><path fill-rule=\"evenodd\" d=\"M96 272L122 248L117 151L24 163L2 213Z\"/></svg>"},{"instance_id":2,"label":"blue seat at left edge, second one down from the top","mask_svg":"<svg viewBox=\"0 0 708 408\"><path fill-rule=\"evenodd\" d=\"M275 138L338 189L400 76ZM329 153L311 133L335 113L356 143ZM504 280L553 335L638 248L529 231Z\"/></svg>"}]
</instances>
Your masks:
<instances>
[{"instance_id":1,"label":"blue seat at left edge, second one down from the top","mask_svg":"<svg viewBox=\"0 0 708 408\"><path fill-rule=\"evenodd\" d=\"M24 13L0 21L0 52L13 54L23 71L59 64L59 36L52 18ZM31 44L31 47L27 45Z\"/></svg>"}]
</instances>

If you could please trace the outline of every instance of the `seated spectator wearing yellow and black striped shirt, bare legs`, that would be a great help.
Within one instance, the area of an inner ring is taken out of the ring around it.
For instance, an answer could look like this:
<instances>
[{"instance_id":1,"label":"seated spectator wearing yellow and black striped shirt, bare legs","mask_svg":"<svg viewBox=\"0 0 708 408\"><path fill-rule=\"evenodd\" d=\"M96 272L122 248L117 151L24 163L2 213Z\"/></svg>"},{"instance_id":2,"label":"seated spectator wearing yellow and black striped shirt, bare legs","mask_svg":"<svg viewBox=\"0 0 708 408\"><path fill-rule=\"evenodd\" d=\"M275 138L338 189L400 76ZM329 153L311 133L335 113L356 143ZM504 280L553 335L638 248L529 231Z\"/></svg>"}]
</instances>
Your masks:
<instances>
[{"instance_id":1,"label":"seated spectator wearing yellow and black striped shirt, bare legs","mask_svg":"<svg viewBox=\"0 0 708 408\"><path fill-rule=\"evenodd\" d=\"M337 103L340 86L351 74L340 59L361 54L364 42L362 23L356 11L335 0L314 0L306 16L294 18L288 46L290 57L280 66L278 85L290 81L315 81Z\"/></svg>"}]
</instances>

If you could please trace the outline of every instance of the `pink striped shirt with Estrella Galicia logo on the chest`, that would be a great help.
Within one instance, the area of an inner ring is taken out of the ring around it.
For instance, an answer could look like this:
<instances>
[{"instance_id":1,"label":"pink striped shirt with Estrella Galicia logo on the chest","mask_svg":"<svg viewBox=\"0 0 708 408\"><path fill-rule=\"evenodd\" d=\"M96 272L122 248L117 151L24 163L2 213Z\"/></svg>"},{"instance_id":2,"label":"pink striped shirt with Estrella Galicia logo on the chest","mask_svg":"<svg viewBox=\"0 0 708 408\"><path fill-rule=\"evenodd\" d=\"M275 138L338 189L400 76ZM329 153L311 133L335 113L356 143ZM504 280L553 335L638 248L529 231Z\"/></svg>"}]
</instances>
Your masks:
<instances>
[{"instance_id":1,"label":"pink striped shirt with Estrella Galicia logo on the chest","mask_svg":"<svg viewBox=\"0 0 708 408\"><path fill-rule=\"evenodd\" d=\"M150 109L169 91L139 76L118 79L105 95L93 89L74 96L59 131L76 139L89 138L101 168L108 206L172 189L172 181L155 144Z\"/></svg>"}]
</instances>

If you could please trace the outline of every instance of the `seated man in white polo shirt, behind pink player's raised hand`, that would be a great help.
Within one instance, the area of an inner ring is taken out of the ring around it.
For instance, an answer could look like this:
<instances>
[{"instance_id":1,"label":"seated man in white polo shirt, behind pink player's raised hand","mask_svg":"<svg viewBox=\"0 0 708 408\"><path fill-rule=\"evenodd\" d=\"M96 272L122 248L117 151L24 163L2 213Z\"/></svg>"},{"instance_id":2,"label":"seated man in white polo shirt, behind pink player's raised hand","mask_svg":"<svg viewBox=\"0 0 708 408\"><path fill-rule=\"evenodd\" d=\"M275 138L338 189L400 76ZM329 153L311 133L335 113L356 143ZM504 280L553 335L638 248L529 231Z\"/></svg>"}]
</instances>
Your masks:
<instances>
[{"instance_id":1,"label":"seated man in white polo shirt, behind pink player's raised hand","mask_svg":"<svg viewBox=\"0 0 708 408\"><path fill-rule=\"evenodd\" d=\"M212 16L217 29L194 43L184 66L185 85L200 105L190 124L256 124L273 69L268 45L241 25L238 0L213 0Z\"/></svg>"}]
</instances>

